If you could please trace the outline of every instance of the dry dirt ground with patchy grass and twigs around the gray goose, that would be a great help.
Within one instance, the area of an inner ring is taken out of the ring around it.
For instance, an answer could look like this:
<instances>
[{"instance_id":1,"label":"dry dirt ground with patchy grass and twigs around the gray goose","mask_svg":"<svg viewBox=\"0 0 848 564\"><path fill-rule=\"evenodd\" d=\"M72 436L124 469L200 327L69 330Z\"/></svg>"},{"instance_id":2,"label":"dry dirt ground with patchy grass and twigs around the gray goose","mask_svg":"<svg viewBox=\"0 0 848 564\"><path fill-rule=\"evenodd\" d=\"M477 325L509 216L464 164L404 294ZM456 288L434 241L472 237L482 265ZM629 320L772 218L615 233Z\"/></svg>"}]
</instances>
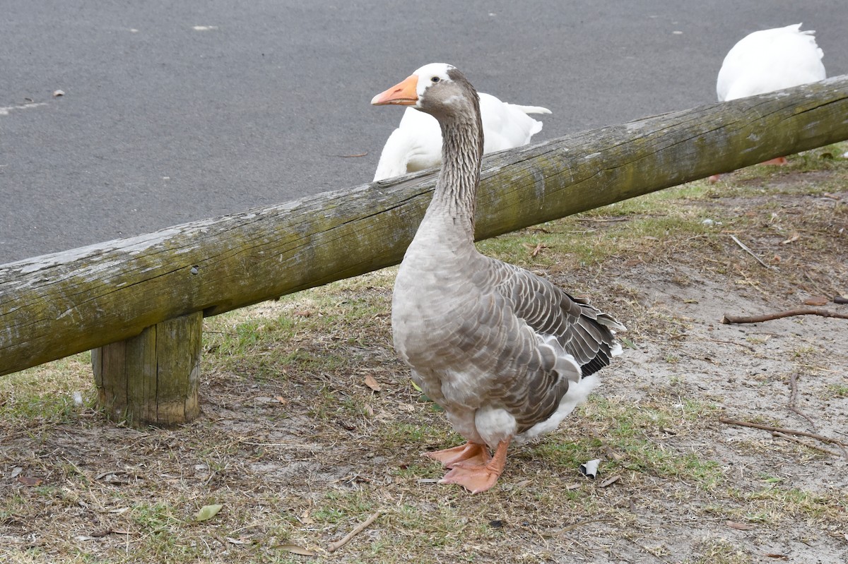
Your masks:
<instances>
[{"instance_id":1,"label":"dry dirt ground with patchy grass and twigs around the gray goose","mask_svg":"<svg viewBox=\"0 0 848 564\"><path fill-rule=\"evenodd\" d=\"M24 392L6 388L0 560L848 562L848 320L721 323L848 312L831 301L848 294L848 191L806 189L817 174L767 191L740 176L733 196L682 201L706 232L539 267L615 312L628 346L589 404L510 451L482 495L436 484L420 456L459 438L394 356L392 271L211 320L204 414L180 429L115 426L90 384L82 406L15 415ZM567 225L600 237L633 221ZM86 378L75 362L56 394ZM577 472L590 458L594 481Z\"/></svg>"}]
</instances>

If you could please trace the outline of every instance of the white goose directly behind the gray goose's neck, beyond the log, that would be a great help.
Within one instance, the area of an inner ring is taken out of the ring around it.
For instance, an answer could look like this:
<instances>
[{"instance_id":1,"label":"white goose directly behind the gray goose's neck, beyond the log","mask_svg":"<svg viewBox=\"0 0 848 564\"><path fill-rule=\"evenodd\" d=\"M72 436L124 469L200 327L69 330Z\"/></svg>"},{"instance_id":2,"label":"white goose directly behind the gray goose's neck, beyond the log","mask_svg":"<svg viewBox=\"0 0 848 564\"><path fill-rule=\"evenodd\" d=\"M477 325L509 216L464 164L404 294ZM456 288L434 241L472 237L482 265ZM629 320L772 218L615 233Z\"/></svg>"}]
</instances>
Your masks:
<instances>
[{"instance_id":1,"label":"white goose directly behind the gray goose's neck, beyond the log","mask_svg":"<svg viewBox=\"0 0 848 564\"><path fill-rule=\"evenodd\" d=\"M489 153L527 145L530 138L542 130L542 122L527 114L550 113L550 109L501 102L491 94L481 92L480 113L486 135L483 152ZM407 108L398 129L389 135L382 147L374 180L438 167L441 163L442 132L438 122L427 113Z\"/></svg>"}]
</instances>

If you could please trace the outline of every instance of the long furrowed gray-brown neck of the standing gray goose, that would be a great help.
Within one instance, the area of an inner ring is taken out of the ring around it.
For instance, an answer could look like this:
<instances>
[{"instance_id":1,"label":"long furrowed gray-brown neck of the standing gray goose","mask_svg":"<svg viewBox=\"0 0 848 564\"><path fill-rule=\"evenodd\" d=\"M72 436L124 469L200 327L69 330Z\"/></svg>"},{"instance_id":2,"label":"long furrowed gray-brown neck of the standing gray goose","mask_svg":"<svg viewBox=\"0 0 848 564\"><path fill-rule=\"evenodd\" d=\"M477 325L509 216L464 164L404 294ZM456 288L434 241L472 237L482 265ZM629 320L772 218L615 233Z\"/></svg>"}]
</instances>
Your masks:
<instances>
[{"instance_id":1,"label":"long furrowed gray-brown neck of the standing gray goose","mask_svg":"<svg viewBox=\"0 0 848 564\"><path fill-rule=\"evenodd\" d=\"M474 209L483 158L483 124L476 97L473 106L474 112L439 119L442 171L428 211L449 216L470 241L474 241Z\"/></svg>"}]
</instances>

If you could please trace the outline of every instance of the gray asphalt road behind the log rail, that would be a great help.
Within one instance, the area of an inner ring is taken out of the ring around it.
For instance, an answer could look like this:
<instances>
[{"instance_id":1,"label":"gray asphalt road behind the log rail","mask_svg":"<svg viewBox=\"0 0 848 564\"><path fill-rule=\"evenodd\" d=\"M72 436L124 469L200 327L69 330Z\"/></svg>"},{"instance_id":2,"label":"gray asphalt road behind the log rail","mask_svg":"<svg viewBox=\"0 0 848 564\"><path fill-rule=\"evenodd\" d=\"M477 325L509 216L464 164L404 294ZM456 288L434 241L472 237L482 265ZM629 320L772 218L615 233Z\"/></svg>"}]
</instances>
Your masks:
<instances>
[{"instance_id":1,"label":"gray asphalt road behind the log rail","mask_svg":"<svg viewBox=\"0 0 848 564\"><path fill-rule=\"evenodd\" d=\"M713 102L801 21L848 73L845 0L7 0L0 263L368 182L402 112L371 97L422 64L550 108L544 140Z\"/></svg>"}]
</instances>

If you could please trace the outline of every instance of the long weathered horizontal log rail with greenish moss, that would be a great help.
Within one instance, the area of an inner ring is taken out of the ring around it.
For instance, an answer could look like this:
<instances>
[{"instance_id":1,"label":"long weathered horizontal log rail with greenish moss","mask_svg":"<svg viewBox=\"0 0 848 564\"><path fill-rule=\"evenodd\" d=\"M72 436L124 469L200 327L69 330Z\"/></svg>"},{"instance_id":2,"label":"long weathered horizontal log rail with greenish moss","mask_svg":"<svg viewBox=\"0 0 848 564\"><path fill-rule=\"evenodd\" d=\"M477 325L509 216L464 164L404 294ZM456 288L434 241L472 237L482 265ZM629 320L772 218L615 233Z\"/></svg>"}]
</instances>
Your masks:
<instances>
[{"instance_id":1,"label":"long weathered horizontal log rail with greenish moss","mask_svg":"<svg viewBox=\"0 0 848 564\"><path fill-rule=\"evenodd\" d=\"M477 238L845 139L848 75L501 152L483 161ZM421 173L0 265L0 375L399 263L434 183Z\"/></svg>"}]
</instances>

